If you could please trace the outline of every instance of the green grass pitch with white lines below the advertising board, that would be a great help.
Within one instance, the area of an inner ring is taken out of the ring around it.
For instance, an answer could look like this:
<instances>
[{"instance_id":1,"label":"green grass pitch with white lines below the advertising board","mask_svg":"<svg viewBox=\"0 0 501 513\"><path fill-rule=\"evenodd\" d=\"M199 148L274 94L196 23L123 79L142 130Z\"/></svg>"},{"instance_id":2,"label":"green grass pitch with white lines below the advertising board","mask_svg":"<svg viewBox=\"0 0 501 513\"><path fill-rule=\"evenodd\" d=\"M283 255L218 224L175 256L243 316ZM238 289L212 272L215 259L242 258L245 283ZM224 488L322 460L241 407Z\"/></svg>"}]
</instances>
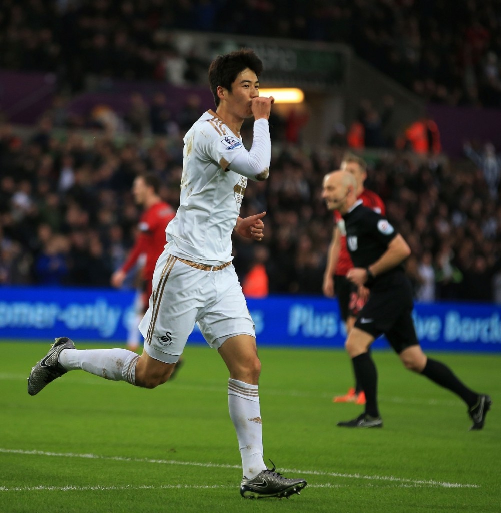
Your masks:
<instances>
[{"instance_id":1,"label":"green grass pitch with white lines below the advertising board","mask_svg":"<svg viewBox=\"0 0 501 513\"><path fill-rule=\"evenodd\" d=\"M82 344L77 348L111 347ZM188 345L176 379L154 390L72 371L37 396L31 366L49 342L3 341L0 511L474 512L501 511L501 356L434 353L491 394L483 431L464 403L375 350L383 429L342 429L361 406L333 404L352 382L342 350L262 346L265 459L308 487L289 500L244 500L216 351Z\"/></svg>"}]
</instances>

